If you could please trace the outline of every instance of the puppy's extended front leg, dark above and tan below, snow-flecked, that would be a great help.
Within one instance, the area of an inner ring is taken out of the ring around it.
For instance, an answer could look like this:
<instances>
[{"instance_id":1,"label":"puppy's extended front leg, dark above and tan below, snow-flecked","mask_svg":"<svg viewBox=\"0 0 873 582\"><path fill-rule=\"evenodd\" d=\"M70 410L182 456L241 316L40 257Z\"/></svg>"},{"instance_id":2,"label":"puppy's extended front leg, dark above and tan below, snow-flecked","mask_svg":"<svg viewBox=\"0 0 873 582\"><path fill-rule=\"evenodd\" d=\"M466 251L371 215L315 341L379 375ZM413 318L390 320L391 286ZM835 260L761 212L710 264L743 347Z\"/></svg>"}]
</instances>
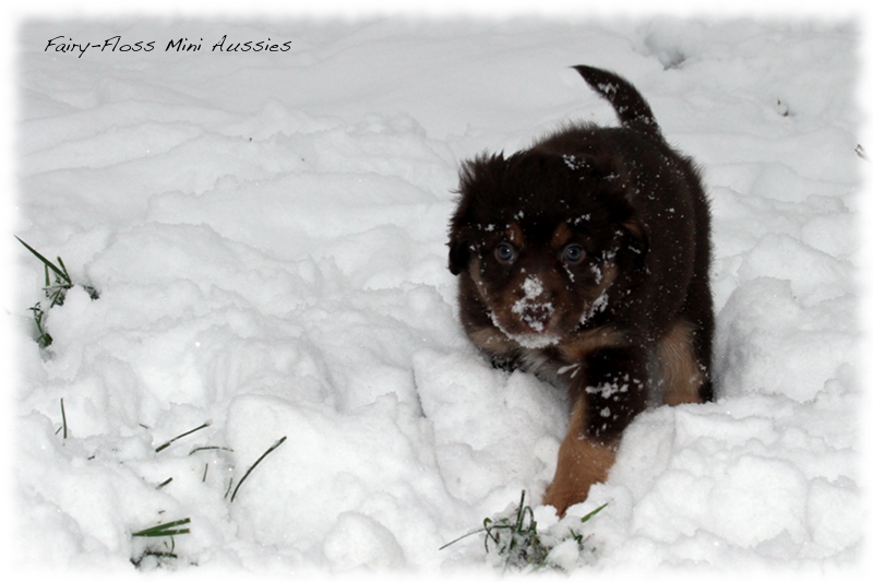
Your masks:
<instances>
[{"instance_id":1,"label":"puppy's extended front leg, dark above and tan below, snow-flecked","mask_svg":"<svg viewBox=\"0 0 873 582\"><path fill-rule=\"evenodd\" d=\"M591 485L607 479L622 432L646 407L645 363L645 351L636 348L603 348L588 356L571 389L570 428L542 500L559 515L585 501Z\"/></svg>"}]
</instances>

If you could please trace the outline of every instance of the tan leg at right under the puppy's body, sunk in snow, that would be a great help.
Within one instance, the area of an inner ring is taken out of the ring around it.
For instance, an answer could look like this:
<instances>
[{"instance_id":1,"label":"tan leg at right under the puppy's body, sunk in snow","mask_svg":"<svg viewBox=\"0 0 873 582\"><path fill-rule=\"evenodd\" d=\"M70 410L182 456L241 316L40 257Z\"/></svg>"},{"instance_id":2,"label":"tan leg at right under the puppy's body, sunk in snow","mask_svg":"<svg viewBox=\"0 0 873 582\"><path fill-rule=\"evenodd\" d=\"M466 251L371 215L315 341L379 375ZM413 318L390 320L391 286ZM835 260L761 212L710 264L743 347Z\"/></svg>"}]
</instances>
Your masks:
<instances>
[{"instance_id":1,"label":"tan leg at right under the puppy's body, sunk in snow","mask_svg":"<svg viewBox=\"0 0 873 582\"><path fill-rule=\"evenodd\" d=\"M694 357L692 328L689 323L673 323L658 342L658 357L663 378L663 403L675 406L703 402L701 387L706 381L706 372Z\"/></svg>"}]
</instances>

